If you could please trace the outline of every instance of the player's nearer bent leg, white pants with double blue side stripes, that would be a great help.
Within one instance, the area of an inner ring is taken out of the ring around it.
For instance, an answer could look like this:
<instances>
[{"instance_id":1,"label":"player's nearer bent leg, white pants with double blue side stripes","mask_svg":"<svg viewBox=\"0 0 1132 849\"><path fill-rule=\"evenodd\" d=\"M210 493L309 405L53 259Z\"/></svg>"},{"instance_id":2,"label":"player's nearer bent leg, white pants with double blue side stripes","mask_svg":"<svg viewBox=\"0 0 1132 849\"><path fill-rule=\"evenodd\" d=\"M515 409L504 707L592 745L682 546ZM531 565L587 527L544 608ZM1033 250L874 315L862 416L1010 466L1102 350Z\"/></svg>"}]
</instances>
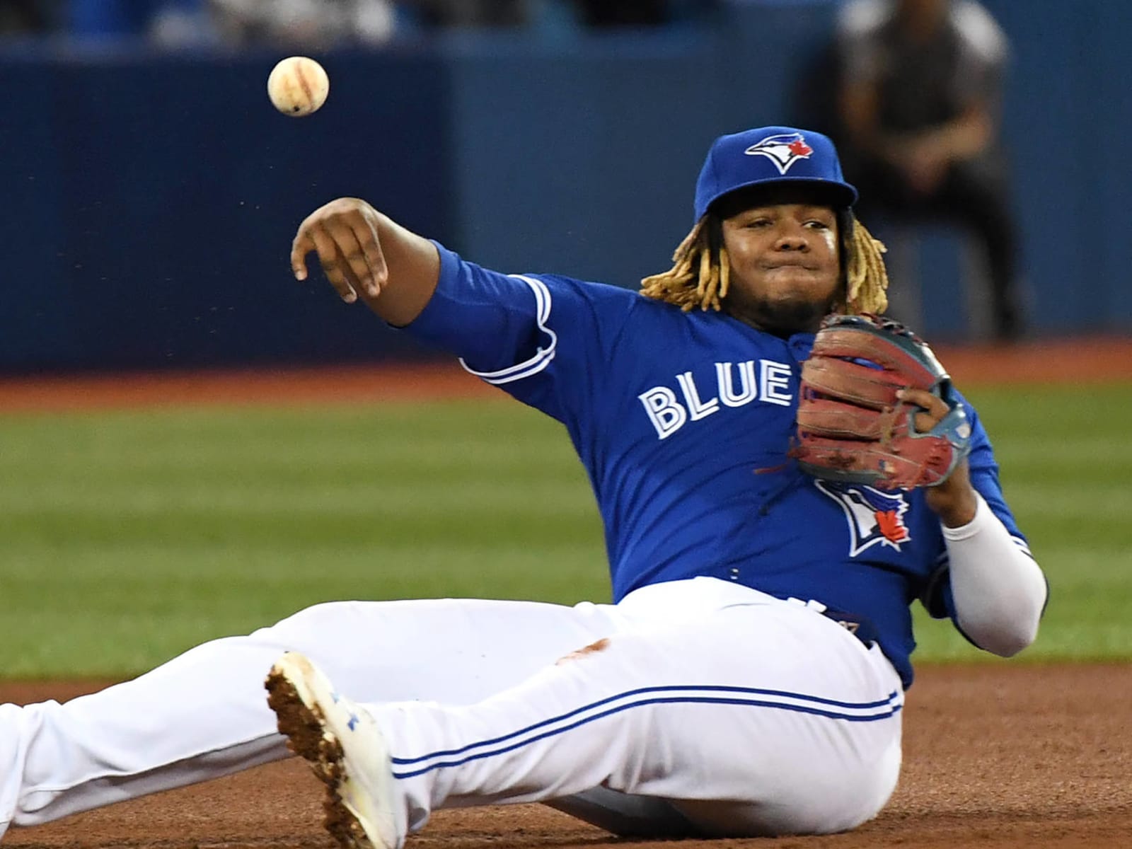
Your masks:
<instances>
[{"instance_id":1,"label":"player's nearer bent leg, white pants with double blue side stripes","mask_svg":"<svg viewBox=\"0 0 1132 849\"><path fill-rule=\"evenodd\" d=\"M757 601L696 610L713 590L677 583L649 588L651 616L633 627L483 702L369 706L409 826L438 807L594 787L670 800L704 834L824 833L874 816L900 762L891 664L801 606L715 582Z\"/></svg>"}]
</instances>

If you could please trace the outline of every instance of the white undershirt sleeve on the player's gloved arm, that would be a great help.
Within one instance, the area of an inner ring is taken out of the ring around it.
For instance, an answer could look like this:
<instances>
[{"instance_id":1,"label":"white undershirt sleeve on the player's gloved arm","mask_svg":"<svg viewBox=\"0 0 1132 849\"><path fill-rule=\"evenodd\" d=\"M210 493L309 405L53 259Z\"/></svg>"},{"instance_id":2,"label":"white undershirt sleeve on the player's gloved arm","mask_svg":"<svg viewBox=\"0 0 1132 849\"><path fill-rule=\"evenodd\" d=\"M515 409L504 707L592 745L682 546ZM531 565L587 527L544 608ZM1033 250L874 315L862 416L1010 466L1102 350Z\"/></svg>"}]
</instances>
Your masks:
<instances>
[{"instance_id":1,"label":"white undershirt sleeve on the player's gloved arm","mask_svg":"<svg viewBox=\"0 0 1132 849\"><path fill-rule=\"evenodd\" d=\"M1038 564L976 496L975 518L943 528L955 618L980 649L1009 658L1037 636L1048 588Z\"/></svg>"}]
</instances>

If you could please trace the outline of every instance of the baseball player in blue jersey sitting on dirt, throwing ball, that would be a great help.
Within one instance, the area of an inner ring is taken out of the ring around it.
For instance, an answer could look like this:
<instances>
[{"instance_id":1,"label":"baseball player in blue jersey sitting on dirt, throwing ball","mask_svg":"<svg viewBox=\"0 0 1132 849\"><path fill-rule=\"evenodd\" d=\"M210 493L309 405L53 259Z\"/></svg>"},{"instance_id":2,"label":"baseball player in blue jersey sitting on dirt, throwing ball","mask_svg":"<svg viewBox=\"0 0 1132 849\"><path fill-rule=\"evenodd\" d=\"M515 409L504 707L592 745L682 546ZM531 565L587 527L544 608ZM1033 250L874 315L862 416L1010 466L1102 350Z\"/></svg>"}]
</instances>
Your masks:
<instances>
[{"instance_id":1,"label":"baseball player in blue jersey sitting on dirt, throwing ball","mask_svg":"<svg viewBox=\"0 0 1132 849\"><path fill-rule=\"evenodd\" d=\"M288 740L344 847L520 801L653 837L875 816L900 769L910 603L1012 655L1047 588L958 394L902 393L917 431L960 421L937 486L794 460L823 316L884 308L856 197L824 136L722 136L693 230L641 292L488 271L360 199L317 209L298 278L316 251L343 300L565 426L614 603L332 602L62 705L3 705L0 829L276 760Z\"/></svg>"}]
</instances>

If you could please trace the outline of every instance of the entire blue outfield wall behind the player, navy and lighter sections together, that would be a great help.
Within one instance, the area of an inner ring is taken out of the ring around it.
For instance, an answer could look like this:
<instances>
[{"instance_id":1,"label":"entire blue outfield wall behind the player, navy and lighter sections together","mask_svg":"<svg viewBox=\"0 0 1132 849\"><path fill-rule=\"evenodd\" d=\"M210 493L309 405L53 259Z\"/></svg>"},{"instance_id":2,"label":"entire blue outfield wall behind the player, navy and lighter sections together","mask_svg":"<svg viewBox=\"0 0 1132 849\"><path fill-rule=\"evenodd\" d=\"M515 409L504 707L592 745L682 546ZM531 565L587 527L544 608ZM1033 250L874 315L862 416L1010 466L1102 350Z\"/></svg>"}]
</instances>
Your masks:
<instances>
[{"instance_id":1,"label":"entire blue outfield wall behind the player, navy and lighter sections together","mask_svg":"<svg viewBox=\"0 0 1132 849\"><path fill-rule=\"evenodd\" d=\"M1005 126L1037 329L1129 332L1132 7L987 0L1011 35ZM1077 11L1075 11L1077 10ZM272 110L275 53L0 51L0 371L424 354L317 277L294 229L340 195L466 257L635 286L691 225L711 139L805 113L829 2L746 3L657 35L451 36L319 55L316 115ZM962 333L955 263L921 281Z\"/></svg>"}]
</instances>

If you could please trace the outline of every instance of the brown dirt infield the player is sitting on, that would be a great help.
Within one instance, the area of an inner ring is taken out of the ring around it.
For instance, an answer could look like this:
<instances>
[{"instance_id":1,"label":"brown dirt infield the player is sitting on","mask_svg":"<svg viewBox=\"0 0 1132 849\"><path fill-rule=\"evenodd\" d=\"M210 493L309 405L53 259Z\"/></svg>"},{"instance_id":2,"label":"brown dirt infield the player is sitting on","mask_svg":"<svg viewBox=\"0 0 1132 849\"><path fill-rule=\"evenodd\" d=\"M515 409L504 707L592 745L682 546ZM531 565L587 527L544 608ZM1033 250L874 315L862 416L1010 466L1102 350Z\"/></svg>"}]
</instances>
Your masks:
<instances>
[{"instance_id":1,"label":"brown dirt infield the player is sitting on","mask_svg":"<svg viewBox=\"0 0 1132 849\"><path fill-rule=\"evenodd\" d=\"M93 685L3 685L0 701ZM872 823L824 838L711 841L752 849L1007 849L1132 844L1132 664L988 663L920 671L904 767ZM752 757L757 757L752 752ZM3 846L139 849L329 847L320 784L298 761L9 832ZM700 841L680 841L695 847ZM441 811L408 849L662 846L617 840L539 805Z\"/></svg>"}]
</instances>

